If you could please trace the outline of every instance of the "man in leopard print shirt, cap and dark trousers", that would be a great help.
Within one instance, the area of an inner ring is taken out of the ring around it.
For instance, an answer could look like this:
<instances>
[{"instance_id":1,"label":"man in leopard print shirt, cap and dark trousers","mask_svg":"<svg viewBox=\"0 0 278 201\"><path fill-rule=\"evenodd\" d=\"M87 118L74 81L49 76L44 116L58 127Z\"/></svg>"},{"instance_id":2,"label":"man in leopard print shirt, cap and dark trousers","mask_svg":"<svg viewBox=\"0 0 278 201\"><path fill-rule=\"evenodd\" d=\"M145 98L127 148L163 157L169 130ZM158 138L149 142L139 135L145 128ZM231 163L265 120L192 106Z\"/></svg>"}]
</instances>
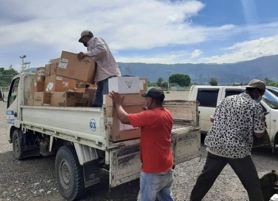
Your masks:
<instances>
[{"instance_id":1,"label":"man in leopard print shirt, cap and dark trousers","mask_svg":"<svg viewBox=\"0 0 278 201\"><path fill-rule=\"evenodd\" d=\"M264 91L264 82L254 79L248 83L245 92L228 96L218 103L211 116L213 126L205 138L206 163L191 192L190 201L202 200L227 164L247 190L249 200L263 201L250 155L253 138L264 134L263 110L258 103Z\"/></svg>"}]
</instances>

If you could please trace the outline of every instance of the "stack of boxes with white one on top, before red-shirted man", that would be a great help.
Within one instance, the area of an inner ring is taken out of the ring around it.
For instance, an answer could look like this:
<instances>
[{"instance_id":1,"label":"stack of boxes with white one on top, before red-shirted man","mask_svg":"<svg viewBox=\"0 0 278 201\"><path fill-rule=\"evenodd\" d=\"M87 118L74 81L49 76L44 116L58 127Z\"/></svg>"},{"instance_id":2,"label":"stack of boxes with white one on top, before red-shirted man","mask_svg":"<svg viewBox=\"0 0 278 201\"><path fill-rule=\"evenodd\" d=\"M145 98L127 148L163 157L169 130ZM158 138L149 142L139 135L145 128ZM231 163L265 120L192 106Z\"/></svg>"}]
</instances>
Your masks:
<instances>
[{"instance_id":1,"label":"stack of boxes with white one on top, before red-shirted man","mask_svg":"<svg viewBox=\"0 0 278 201\"><path fill-rule=\"evenodd\" d=\"M142 84L140 84L142 83ZM124 95L123 109L128 113L140 113L145 105L141 92L147 91L147 79L139 77L113 77L108 79L109 91L117 91ZM103 95L103 108L106 110L107 124L110 126L109 140L112 142L140 138L141 128L122 124L116 114L113 100Z\"/></svg>"}]
</instances>

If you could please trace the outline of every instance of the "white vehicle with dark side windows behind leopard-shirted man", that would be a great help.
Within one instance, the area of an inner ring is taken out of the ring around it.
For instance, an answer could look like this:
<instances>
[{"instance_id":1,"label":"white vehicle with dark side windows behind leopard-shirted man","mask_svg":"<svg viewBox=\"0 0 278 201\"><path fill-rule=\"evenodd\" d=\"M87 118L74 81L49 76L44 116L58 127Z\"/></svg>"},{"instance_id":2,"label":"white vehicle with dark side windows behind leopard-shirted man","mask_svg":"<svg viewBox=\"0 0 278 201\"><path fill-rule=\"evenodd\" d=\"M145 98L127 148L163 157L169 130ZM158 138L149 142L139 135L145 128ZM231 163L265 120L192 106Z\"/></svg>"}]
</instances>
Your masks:
<instances>
[{"instance_id":1,"label":"white vehicle with dark side windows behind leopard-shirted man","mask_svg":"<svg viewBox=\"0 0 278 201\"><path fill-rule=\"evenodd\" d=\"M199 102L199 118L201 133L206 134L212 123L210 116L212 115L218 102L234 94L245 91L243 86L201 86L192 85L189 91L188 99L197 100ZM266 88L261 100L261 107L265 114L265 122L267 124L267 132L272 144L274 152L276 144L278 144L278 97Z\"/></svg>"}]
</instances>

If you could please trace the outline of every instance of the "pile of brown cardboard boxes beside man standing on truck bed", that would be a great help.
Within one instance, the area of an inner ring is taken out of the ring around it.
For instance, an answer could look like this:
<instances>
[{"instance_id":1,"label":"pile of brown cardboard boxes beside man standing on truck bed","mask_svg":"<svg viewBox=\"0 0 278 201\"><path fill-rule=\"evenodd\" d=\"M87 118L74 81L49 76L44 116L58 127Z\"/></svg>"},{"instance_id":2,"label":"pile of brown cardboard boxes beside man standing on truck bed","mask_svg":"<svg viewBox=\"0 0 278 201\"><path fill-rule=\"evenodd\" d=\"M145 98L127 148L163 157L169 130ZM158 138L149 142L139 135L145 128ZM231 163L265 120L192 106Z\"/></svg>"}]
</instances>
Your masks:
<instances>
[{"instance_id":1,"label":"pile of brown cardboard boxes beside man standing on truck bed","mask_svg":"<svg viewBox=\"0 0 278 201\"><path fill-rule=\"evenodd\" d=\"M93 84L95 61L62 52L61 58L53 59L45 67L39 67L31 82L29 106L89 107L96 91Z\"/></svg>"}]
</instances>

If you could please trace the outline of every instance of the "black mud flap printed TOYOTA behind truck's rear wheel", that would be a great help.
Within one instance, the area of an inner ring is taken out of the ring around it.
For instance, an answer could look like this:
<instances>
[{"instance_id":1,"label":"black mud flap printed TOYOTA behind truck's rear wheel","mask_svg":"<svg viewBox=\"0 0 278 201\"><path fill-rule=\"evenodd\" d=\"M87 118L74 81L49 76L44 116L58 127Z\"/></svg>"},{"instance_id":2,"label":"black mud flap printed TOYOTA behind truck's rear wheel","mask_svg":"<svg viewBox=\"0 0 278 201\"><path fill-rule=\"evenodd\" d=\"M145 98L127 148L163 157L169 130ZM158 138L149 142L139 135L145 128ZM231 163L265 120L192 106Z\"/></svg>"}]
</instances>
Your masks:
<instances>
[{"instance_id":1,"label":"black mud flap printed TOYOTA behind truck's rear wheel","mask_svg":"<svg viewBox=\"0 0 278 201\"><path fill-rule=\"evenodd\" d=\"M85 187L100 182L98 160L92 160L83 164Z\"/></svg>"}]
</instances>

